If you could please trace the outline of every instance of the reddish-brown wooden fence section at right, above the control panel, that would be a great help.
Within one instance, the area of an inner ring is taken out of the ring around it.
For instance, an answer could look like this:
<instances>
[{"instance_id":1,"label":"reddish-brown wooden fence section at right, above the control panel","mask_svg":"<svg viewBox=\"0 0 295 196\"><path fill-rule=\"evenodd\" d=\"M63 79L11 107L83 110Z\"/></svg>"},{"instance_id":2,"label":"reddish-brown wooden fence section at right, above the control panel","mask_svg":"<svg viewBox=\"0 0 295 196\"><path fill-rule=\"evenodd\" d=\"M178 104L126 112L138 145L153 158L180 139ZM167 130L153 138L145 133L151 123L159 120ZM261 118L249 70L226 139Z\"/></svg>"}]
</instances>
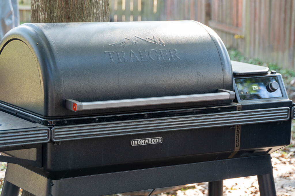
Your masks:
<instances>
[{"instance_id":1,"label":"reddish-brown wooden fence section at right, above the control panel","mask_svg":"<svg viewBox=\"0 0 295 196\"><path fill-rule=\"evenodd\" d=\"M211 2L209 26L228 48L295 70L295 0Z\"/></svg>"}]
</instances>

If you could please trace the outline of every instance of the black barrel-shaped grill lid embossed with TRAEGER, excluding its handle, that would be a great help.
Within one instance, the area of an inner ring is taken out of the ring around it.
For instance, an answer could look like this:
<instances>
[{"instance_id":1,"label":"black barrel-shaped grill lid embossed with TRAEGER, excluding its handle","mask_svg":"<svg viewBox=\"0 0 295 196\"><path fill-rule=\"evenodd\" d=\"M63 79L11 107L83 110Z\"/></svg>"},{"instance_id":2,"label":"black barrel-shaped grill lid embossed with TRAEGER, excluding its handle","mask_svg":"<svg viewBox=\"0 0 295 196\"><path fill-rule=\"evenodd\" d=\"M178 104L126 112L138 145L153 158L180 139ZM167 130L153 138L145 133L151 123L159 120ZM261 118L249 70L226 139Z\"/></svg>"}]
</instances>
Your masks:
<instances>
[{"instance_id":1,"label":"black barrel-shaped grill lid embossed with TRAEGER, excluding its handle","mask_svg":"<svg viewBox=\"0 0 295 196\"><path fill-rule=\"evenodd\" d=\"M196 21L23 24L0 43L0 100L48 118L229 104L231 100L73 112L78 102L232 91L217 34Z\"/></svg>"}]
</instances>

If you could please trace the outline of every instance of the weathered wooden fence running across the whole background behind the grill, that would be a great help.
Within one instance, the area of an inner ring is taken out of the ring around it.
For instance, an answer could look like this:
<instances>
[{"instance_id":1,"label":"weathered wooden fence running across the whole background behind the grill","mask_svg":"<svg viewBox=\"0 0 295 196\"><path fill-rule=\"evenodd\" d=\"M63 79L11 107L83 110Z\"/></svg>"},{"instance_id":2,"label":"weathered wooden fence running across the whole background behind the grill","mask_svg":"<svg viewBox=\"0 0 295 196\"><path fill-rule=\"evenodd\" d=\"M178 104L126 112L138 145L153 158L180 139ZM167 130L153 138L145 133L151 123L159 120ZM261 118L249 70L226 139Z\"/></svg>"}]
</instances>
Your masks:
<instances>
[{"instance_id":1,"label":"weathered wooden fence running across the whole background behind the grill","mask_svg":"<svg viewBox=\"0 0 295 196\"><path fill-rule=\"evenodd\" d=\"M295 0L110 0L110 18L200 21L227 48L295 70Z\"/></svg>"}]
</instances>

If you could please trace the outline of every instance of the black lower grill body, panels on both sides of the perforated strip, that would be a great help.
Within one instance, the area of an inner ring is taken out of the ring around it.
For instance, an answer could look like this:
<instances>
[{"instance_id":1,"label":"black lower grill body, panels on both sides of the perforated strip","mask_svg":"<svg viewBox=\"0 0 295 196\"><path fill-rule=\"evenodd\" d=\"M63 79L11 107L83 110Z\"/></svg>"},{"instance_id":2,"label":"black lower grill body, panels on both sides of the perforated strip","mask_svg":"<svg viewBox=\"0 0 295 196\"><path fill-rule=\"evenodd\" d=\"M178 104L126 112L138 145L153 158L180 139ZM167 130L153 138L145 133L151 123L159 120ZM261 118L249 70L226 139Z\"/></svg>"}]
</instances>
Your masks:
<instances>
[{"instance_id":1,"label":"black lower grill body, panels on both sides of the perforated strip","mask_svg":"<svg viewBox=\"0 0 295 196\"><path fill-rule=\"evenodd\" d=\"M290 119L240 125L240 146L233 157L265 155L283 148L290 143L290 130ZM132 140L159 137L161 143L131 145ZM70 140L43 144L43 167L28 168L57 179L227 159L235 145L235 126Z\"/></svg>"}]
</instances>

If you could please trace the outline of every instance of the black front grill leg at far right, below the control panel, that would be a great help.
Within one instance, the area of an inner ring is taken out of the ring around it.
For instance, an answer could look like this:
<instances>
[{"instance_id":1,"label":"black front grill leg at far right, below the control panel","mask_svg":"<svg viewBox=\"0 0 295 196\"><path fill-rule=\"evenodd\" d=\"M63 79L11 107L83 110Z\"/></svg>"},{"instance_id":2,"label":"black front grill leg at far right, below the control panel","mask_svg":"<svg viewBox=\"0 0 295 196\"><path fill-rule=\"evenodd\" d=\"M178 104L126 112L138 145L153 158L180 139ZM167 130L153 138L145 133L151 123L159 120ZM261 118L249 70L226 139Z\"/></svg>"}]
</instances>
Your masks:
<instances>
[{"instance_id":1,"label":"black front grill leg at far right, below the control panel","mask_svg":"<svg viewBox=\"0 0 295 196\"><path fill-rule=\"evenodd\" d=\"M275 181L273 173L258 175L258 185L260 196L276 196Z\"/></svg>"}]
</instances>

